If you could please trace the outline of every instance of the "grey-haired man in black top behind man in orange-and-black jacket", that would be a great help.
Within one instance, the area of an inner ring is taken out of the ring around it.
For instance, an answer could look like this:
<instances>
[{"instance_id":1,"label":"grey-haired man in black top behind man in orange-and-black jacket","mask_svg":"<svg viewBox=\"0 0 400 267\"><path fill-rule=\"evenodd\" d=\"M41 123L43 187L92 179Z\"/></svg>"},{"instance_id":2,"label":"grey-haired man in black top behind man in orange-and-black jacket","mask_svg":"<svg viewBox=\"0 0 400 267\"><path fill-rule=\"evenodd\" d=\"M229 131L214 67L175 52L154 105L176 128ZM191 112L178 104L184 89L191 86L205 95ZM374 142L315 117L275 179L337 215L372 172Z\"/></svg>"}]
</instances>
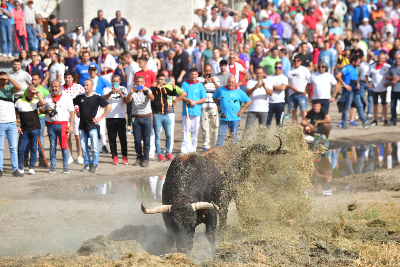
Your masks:
<instances>
[{"instance_id":1,"label":"grey-haired man in black top behind man in orange-and-black jacket","mask_svg":"<svg viewBox=\"0 0 400 267\"><path fill-rule=\"evenodd\" d=\"M172 59L174 67L172 68L172 76L174 76L176 85L181 86L182 82L189 78L189 55L182 50L182 42L176 42L175 56Z\"/></svg>"}]
</instances>

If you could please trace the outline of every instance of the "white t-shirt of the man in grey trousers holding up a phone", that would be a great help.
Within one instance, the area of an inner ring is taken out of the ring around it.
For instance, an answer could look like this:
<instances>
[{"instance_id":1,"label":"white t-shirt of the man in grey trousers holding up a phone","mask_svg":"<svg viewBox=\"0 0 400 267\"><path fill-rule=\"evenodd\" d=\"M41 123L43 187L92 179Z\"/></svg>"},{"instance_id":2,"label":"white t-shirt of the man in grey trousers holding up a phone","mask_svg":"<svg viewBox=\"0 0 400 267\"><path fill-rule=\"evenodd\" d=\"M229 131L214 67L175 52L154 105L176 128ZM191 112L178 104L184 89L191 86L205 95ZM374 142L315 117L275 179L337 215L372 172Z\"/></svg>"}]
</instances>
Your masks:
<instances>
[{"instance_id":1,"label":"white t-shirt of the man in grey trousers holding up a phone","mask_svg":"<svg viewBox=\"0 0 400 267\"><path fill-rule=\"evenodd\" d=\"M272 82L270 82L267 78L262 79L265 87L272 90ZM258 83L257 79L251 79L247 81L247 88L254 88ZM257 88L250 95L251 104L249 106L248 111L252 112L268 112L269 104L268 104L268 94L264 87Z\"/></svg>"}]
</instances>

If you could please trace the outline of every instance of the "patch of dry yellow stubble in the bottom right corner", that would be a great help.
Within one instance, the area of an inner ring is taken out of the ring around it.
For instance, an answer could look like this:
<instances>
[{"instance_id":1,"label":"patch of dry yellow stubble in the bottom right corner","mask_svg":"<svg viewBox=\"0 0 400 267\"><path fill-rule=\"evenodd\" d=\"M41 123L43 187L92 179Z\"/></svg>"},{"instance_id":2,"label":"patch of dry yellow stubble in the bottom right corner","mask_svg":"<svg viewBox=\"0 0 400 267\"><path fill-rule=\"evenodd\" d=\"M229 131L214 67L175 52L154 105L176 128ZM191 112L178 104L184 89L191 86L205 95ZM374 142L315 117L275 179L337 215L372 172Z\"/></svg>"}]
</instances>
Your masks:
<instances>
[{"instance_id":1,"label":"patch of dry yellow stubble in the bottom right corner","mask_svg":"<svg viewBox=\"0 0 400 267\"><path fill-rule=\"evenodd\" d=\"M366 246L363 244L360 247L360 258L353 259L350 266L354 267L372 267L372 266L400 266L400 251L396 241L383 243L382 245Z\"/></svg>"}]
</instances>

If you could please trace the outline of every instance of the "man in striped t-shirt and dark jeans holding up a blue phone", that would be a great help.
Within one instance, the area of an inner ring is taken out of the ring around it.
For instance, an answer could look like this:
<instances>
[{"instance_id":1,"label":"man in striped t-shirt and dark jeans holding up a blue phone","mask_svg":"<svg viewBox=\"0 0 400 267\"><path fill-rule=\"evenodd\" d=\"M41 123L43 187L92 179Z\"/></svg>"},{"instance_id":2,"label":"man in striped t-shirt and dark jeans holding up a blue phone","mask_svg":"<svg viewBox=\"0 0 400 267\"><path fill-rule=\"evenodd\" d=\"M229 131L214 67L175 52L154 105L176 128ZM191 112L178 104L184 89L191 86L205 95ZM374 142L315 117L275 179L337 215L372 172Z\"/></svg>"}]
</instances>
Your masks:
<instances>
[{"instance_id":1,"label":"man in striped t-shirt and dark jeans holding up a blue phone","mask_svg":"<svg viewBox=\"0 0 400 267\"><path fill-rule=\"evenodd\" d=\"M132 124L133 135L135 137L136 162L135 166L148 167L150 151L150 133L152 121L152 109L150 100L154 100L154 95L145 86L143 76L137 76L135 85L130 90L125 102L128 104L132 100ZM143 139L143 148L141 140Z\"/></svg>"}]
</instances>

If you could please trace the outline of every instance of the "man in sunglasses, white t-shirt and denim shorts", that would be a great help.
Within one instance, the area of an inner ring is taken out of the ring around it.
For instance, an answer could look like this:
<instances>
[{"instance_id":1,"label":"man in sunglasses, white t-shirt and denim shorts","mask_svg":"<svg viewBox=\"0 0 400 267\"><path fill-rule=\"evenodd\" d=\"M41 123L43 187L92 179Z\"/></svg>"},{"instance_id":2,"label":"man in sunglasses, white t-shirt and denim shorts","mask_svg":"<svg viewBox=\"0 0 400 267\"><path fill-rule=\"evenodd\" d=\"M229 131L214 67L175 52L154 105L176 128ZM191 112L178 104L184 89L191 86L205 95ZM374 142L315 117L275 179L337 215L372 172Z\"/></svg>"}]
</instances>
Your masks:
<instances>
[{"instance_id":1,"label":"man in sunglasses, white t-shirt and denim shorts","mask_svg":"<svg viewBox=\"0 0 400 267\"><path fill-rule=\"evenodd\" d=\"M293 124L297 124L297 106L300 107L302 120L307 115L307 91L306 86L311 72L308 68L301 65L301 57L296 55L293 60L293 67L288 70L287 76L289 80L289 104L292 110Z\"/></svg>"}]
</instances>

